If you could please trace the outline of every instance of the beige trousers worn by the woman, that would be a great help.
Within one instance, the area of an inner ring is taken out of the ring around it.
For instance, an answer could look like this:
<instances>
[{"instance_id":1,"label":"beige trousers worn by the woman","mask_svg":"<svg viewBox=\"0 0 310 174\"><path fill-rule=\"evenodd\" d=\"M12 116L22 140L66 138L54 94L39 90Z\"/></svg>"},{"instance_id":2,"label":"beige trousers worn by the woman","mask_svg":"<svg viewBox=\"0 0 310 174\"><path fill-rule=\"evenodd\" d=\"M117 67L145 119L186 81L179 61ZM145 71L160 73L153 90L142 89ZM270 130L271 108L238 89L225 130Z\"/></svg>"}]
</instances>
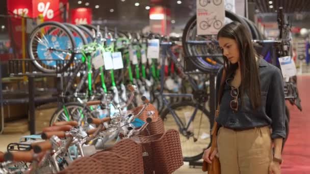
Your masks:
<instances>
[{"instance_id":1,"label":"beige trousers worn by the woman","mask_svg":"<svg viewBox=\"0 0 310 174\"><path fill-rule=\"evenodd\" d=\"M234 131L221 127L218 151L221 174L268 174L272 160L269 127Z\"/></svg>"}]
</instances>

